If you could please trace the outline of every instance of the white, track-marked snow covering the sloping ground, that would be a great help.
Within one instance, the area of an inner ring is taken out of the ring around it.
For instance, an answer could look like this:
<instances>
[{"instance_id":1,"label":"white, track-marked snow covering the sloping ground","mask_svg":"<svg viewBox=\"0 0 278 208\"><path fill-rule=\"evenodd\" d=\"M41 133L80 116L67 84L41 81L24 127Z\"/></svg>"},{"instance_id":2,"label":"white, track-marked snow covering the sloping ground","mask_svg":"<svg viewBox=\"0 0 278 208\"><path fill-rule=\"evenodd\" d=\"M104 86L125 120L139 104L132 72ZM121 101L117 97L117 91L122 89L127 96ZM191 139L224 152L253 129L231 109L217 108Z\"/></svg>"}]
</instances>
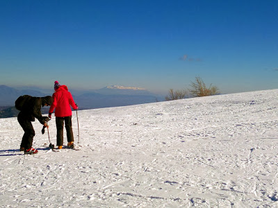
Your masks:
<instances>
[{"instance_id":1,"label":"white, track-marked snow covering the sloping ground","mask_svg":"<svg viewBox=\"0 0 278 208\"><path fill-rule=\"evenodd\" d=\"M0 119L0 207L278 207L277 96L83 110L80 137L73 112L81 150L48 150L35 121L37 155L19 152L17 118Z\"/></svg>"}]
</instances>

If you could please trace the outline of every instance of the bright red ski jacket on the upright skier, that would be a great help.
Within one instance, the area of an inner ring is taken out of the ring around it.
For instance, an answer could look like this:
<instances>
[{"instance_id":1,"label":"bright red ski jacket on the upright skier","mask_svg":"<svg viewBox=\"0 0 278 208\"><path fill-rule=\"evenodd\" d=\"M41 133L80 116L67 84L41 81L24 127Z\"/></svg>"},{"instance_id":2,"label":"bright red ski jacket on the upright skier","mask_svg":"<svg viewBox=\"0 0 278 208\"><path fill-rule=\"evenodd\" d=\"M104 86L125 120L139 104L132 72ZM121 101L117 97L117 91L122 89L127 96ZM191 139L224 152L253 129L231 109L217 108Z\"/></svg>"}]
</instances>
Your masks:
<instances>
[{"instance_id":1,"label":"bright red ski jacket on the upright skier","mask_svg":"<svg viewBox=\"0 0 278 208\"><path fill-rule=\"evenodd\" d=\"M77 105L74 103L74 98L72 98L72 94L68 91L66 85L60 86L56 92L52 95L53 103L50 106L49 114L54 112L56 117L66 117L72 115L72 109L70 105L72 105L73 109L77 109Z\"/></svg>"}]
</instances>

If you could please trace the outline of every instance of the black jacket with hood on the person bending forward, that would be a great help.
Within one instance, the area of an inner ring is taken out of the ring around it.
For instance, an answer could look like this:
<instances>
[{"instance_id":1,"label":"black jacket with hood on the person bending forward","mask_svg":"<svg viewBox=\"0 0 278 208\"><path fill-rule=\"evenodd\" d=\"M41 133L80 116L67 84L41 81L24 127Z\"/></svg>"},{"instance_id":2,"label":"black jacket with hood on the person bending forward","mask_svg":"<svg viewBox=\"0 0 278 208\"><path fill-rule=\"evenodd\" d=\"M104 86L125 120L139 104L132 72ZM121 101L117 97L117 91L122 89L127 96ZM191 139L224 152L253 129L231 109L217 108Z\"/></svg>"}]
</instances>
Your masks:
<instances>
[{"instance_id":1,"label":"black jacket with hood on the person bending forward","mask_svg":"<svg viewBox=\"0 0 278 208\"><path fill-rule=\"evenodd\" d=\"M47 116L42 116L42 112L40 109L44 106L44 104L51 105L53 99L51 96L45 97L30 97L26 103L24 103L24 107L21 111L21 114L24 114L24 117L28 121L35 121L35 118L40 121L40 123L44 124Z\"/></svg>"}]
</instances>

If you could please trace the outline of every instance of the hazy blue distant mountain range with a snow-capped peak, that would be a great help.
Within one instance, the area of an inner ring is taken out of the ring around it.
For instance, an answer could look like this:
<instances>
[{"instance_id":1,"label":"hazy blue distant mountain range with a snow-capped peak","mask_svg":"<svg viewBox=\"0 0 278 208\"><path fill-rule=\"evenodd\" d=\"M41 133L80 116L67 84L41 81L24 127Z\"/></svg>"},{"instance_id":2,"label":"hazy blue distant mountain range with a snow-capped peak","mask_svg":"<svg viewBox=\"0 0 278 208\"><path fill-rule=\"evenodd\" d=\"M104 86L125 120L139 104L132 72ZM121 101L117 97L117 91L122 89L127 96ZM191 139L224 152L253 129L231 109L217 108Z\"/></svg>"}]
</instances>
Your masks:
<instances>
[{"instance_id":1,"label":"hazy blue distant mountain range with a snow-capped peak","mask_svg":"<svg viewBox=\"0 0 278 208\"><path fill-rule=\"evenodd\" d=\"M15 105L15 100L21 95L28 94L42 97L52 95L53 93L47 94L45 90L35 89L35 87L32 89L15 89L6 85L0 85L0 118L17 116L18 111L13 106ZM70 90L70 92L72 91ZM143 88L116 85L95 89L78 96L72 93L72 96L76 104L79 105L80 110L154 103L164 100L163 96L152 94Z\"/></svg>"}]
</instances>

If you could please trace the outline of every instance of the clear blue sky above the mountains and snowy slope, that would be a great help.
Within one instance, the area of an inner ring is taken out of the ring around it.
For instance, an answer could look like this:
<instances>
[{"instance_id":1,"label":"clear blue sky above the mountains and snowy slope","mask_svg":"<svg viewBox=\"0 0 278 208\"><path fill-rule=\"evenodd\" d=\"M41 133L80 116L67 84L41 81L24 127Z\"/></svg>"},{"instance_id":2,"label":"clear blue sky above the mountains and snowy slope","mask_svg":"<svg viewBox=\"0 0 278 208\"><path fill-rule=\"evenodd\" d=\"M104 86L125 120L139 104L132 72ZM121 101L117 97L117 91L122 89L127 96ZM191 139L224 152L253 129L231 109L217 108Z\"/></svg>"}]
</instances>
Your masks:
<instances>
[{"instance_id":1,"label":"clear blue sky above the mountains and snowy slope","mask_svg":"<svg viewBox=\"0 0 278 208\"><path fill-rule=\"evenodd\" d=\"M2 0L0 85L278 88L278 1Z\"/></svg>"}]
</instances>

